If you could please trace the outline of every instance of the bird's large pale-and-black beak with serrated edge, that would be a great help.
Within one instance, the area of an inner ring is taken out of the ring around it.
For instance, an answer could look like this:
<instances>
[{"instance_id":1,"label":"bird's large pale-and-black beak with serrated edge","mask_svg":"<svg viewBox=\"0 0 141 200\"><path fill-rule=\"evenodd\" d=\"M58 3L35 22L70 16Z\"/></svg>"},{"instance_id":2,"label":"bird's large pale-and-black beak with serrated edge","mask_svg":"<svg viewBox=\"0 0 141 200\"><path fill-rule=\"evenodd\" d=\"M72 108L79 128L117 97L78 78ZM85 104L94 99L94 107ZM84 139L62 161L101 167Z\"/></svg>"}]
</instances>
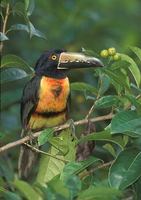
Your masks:
<instances>
[{"instance_id":1,"label":"bird's large pale-and-black beak with serrated edge","mask_svg":"<svg viewBox=\"0 0 141 200\"><path fill-rule=\"evenodd\" d=\"M75 69L103 66L103 63L98 58L86 56L82 53L63 52L60 54L57 69Z\"/></svg>"}]
</instances>

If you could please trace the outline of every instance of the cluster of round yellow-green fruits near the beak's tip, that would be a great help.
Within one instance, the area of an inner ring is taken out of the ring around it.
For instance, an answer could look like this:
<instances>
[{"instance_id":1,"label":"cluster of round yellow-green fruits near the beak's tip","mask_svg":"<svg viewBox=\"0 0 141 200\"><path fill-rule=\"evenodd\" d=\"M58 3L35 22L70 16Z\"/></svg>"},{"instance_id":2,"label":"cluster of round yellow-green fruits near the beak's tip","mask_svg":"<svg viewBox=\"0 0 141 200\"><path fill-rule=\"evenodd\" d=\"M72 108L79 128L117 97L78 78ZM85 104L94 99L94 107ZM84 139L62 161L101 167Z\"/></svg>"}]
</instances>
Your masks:
<instances>
[{"instance_id":1,"label":"cluster of round yellow-green fruits near the beak's tip","mask_svg":"<svg viewBox=\"0 0 141 200\"><path fill-rule=\"evenodd\" d=\"M114 61L120 60L120 54L116 52L116 49L114 47L111 47L109 49L103 49L100 52L100 56L102 58L110 57Z\"/></svg>"}]
</instances>

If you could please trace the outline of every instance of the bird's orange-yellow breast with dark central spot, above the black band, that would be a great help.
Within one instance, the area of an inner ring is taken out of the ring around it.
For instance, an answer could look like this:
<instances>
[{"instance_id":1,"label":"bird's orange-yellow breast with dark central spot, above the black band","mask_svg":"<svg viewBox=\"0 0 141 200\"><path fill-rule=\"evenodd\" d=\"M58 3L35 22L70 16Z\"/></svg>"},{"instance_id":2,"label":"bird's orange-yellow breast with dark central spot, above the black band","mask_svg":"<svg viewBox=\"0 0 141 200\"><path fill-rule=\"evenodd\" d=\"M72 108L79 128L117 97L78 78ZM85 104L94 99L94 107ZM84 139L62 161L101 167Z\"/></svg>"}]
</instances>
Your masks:
<instances>
[{"instance_id":1,"label":"bird's orange-yellow breast with dark central spot, above the black band","mask_svg":"<svg viewBox=\"0 0 141 200\"><path fill-rule=\"evenodd\" d=\"M35 112L61 112L66 108L70 93L69 80L43 77L39 89L39 101Z\"/></svg>"}]
</instances>

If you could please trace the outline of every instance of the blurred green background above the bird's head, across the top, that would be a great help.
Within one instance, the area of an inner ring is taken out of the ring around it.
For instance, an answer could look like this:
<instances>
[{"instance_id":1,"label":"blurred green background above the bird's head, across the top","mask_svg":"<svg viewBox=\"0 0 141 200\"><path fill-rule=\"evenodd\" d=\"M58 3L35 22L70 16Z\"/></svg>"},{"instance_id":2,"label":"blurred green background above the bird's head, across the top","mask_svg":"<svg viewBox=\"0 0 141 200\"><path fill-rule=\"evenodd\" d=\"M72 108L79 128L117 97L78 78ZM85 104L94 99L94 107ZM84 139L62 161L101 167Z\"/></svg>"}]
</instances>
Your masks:
<instances>
[{"instance_id":1,"label":"blurred green background above the bird's head, across the top","mask_svg":"<svg viewBox=\"0 0 141 200\"><path fill-rule=\"evenodd\" d=\"M34 64L46 49L81 47L99 51L114 46L124 51L130 45L141 44L140 0L42 0L35 1L31 21L47 40L23 32L10 32L6 53L17 54ZM13 17L9 23L22 23Z\"/></svg>"}]
</instances>

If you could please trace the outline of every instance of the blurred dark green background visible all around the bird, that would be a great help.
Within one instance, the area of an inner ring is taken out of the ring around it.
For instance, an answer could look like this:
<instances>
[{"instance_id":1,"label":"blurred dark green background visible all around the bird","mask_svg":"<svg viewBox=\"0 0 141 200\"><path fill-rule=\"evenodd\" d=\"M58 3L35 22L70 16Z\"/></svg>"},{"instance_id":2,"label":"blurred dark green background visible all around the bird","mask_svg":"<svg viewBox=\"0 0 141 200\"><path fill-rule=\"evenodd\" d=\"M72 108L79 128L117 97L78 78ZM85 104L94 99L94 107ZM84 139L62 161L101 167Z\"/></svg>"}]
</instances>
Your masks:
<instances>
[{"instance_id":1,"label":"blurred dark green background visible all around the bird","mask_svg":"<svg viewBox=\"0 0 141 200\"><path fill-rule=\"evenodd\" d=\"M125 53L129 46L141 46L140 0L36 0L30 20L47 39L35 36L30 39L24 31L11 31L10 40L4 42L3 54L18 55L33 67L40 54L50 48L81 51L83 47L99 53L115 47ZM8 26L17 23L25 22L20 16L11 16ZM91 70L78 70L69 76L71 82L97 84ZM20 137L19 102L27 80L26 77L2 85L0 132L4 143ZM72 92L72 102L75 102L72 103L74 119L82 119L92 105L92 101L86 104L84 94L79 92Z\"/></svg>"}]
</instances>

